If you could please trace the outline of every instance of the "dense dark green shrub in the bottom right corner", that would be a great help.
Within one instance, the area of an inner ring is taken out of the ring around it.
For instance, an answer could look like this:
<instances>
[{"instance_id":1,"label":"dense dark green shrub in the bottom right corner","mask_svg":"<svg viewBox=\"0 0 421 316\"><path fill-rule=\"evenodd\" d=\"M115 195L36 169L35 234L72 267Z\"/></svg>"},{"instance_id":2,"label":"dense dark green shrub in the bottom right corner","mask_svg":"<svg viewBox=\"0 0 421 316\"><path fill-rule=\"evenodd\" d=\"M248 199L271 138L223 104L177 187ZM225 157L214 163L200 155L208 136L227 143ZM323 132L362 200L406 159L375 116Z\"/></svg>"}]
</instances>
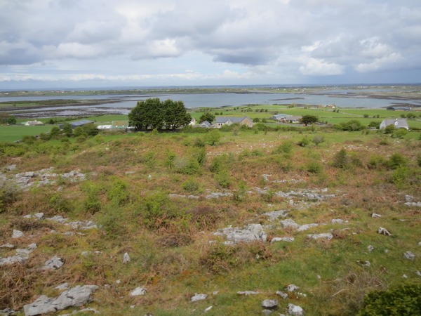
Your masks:
<instances>
[{"instance_id":1,"label":"dense dark green shrub in the bottom right corner","mask_svg":"<svg viewBox=\"0 0 421 316\"><path fill-rule=\"evenodd\" d=\"M364 297L359 316L421 315L421 284L403 284Z\"/></svg>"}]
</instances>

